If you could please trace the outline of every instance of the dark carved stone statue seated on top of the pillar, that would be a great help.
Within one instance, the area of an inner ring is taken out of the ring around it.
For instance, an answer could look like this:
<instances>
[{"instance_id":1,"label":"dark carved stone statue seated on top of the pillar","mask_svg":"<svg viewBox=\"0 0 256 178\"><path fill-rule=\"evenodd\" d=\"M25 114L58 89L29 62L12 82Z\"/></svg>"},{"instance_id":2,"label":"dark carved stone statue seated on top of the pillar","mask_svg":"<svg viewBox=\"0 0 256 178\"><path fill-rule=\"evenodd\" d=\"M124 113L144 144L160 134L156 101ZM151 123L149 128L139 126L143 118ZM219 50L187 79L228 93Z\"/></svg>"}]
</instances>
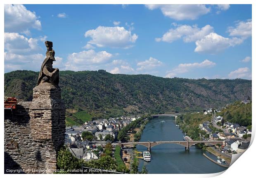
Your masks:
<instances>
[{"instance_id":1,"label":"dark carved stone statue seated on top of the pillar","mask_svg":"<svg viewBox=\"0 0 256 178\"><path fill-rule=\"evenodd\" d=\"M37 85L40 83L51 83L55 87L59 86L59 69L52 68L53 61L56 61L54 58L55 52L52 49L52 42L45 41L45 46L47 47L46 58L43 61Z\"/></svg>"}]
</instances>

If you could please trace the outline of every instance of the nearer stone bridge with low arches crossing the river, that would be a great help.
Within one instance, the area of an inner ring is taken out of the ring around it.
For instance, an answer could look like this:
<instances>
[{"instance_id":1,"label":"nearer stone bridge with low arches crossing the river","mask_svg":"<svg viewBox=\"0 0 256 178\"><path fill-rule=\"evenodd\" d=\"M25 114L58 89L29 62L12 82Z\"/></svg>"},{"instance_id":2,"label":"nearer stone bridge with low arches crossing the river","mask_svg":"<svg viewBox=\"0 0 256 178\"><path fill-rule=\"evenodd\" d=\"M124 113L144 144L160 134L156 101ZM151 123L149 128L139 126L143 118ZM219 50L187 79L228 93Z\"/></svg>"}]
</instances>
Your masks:
<instances>
[{"instance_id":1,"label":"nearer stone bridge with low arches crossing the river","mask_svg":"<svg viewBox=\"0 0 256 178\"><path fill-rule=\"evenodd\" d=\"M211 145L216 145L216 144L223 144L223 141L156 141L156 142L127 142L127 143L112 143L112 145L120 145L123 147L124 145L143 145L147 147L148 151L151 151L151 148L164 144L164 143L174 143L178 145L183 145L185 146L185 150L189 150L192 145L198 144L198 143L204 143L204 144L211 144Z\"/></svg>"}]
</instances>

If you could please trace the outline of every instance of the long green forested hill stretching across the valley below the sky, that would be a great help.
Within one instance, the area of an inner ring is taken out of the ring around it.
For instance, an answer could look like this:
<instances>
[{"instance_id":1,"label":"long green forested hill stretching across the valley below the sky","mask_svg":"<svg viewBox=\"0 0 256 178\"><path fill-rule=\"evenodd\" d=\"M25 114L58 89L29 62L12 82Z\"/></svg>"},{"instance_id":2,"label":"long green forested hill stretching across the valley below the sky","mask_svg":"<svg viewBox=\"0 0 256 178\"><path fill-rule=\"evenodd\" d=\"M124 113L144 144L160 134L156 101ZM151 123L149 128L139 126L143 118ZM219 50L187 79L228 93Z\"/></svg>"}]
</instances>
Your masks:
<instances>
[{"instance_id":1,"label":"long green forested hill stretching across the valley below the sky","mask_svg":"<svg viewBox=\"0 0 256 178\"><path fill-rule=\"evenodd\" d=\"M38 72L5 73L5 96L31 101ZM105 111L136 105L145 112L181 111L225 105L251 97L251 80L163 78L98 71L60 71L66 108Z\"/></svg>"}]
</instances>

